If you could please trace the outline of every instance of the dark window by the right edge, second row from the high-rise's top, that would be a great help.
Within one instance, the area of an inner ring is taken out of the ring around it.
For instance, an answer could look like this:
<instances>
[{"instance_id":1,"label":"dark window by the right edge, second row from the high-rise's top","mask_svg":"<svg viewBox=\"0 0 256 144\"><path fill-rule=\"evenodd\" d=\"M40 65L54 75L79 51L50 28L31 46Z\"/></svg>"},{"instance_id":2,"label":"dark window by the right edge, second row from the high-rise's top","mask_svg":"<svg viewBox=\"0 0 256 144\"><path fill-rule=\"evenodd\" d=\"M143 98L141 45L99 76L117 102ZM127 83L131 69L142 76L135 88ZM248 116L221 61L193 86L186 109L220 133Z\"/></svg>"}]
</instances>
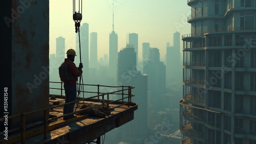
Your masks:
<instances>
[{"instance_id":1,"label":"dark window by the right edge, second row from the high-rise's top","mask_svg":"<svg viewBox=\"0 0 256 144\"><path fill-rule=\"evenodd\" d=\"M241 30L254 29L254 12L253 11L240 13L240 28Z\"/></svg>"}]
</instances>

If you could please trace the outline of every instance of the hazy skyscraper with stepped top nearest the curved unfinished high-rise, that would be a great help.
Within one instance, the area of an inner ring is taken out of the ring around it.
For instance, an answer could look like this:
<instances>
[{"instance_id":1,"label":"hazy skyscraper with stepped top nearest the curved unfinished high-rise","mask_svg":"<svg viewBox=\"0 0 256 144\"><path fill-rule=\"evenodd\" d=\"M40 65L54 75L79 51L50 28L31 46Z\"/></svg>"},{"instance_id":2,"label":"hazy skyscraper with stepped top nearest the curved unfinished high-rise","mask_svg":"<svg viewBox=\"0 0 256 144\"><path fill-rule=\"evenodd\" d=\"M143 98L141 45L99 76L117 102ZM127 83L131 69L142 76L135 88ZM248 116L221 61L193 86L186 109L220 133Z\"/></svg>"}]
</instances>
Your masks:
<instances>
[{"instance_id":1,"label":"hazy skyscraper with stepped top nearest the curved unfinished high-rise","mask_svg":"<svg viewBox=\"0 0 256 144\"><path fill-rule=\"evenodd\" d=\"M180 33L174 33L173 46L166 44L166 81L167 84L180 82L182 77L182 63L180 53Z\"/></svg>"}]
</instances>

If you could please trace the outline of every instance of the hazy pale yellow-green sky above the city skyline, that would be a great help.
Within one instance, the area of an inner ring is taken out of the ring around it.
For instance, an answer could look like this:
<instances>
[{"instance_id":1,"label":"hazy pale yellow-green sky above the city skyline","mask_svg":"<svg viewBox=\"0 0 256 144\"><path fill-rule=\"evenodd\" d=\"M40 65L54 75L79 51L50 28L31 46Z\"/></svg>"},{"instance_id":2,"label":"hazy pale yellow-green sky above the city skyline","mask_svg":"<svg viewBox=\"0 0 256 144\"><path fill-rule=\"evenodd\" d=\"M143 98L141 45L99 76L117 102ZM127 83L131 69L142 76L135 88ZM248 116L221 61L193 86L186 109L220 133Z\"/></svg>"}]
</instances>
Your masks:
<instances>
[{"instance_id":1,"label":"hazy pale yellow-green sky above the city skyline","mask_svg":"<svg viewBox=\"0 0 256 144\"><path fill-rule=\"evenodd\" d=\"M113 0L82 1L81 25L89 23L89 33L98 33L98 59L104 54L109 56ZM75 49L75 24L72 15L73 0L50 1L50 54L55 54L56 38L59 36L66 38L66 51ZM190 24L186 18L188 15L190 7L186 0L114 0L114 30L118 35L118 52L126 45L126 35L137 33L139 58L142 57L142 43L150 42L151 47L160 50L163 60L166 42L173 45L173 33L190 33Z\"/></svg>"}]
</instances>

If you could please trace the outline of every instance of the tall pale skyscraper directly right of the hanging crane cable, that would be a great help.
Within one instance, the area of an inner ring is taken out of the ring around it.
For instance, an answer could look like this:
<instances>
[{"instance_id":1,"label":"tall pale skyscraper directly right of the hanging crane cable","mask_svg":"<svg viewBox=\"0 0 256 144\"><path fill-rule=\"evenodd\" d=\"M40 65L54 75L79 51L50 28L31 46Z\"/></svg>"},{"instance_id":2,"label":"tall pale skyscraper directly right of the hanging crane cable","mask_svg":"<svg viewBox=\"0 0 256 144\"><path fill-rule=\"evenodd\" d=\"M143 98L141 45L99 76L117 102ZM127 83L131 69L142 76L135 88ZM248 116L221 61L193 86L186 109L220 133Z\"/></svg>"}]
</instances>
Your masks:
<instances>
[{"instance_id":1,"label":"tall pale skyscraper directly right of the hanging crane cable","mask_svg":"<svg viewBox=\"0 0 256 144\"><path fill-rule=\"evenodd\" d=\"M81 60L82 60L83 69L84 69L82 75L84 78L89 79L89 70L88 70L89 69L89 24L88 23L83 23L82 26L80 27L80 41L81 41ZM76 52L78 52L79 54L79 49Z\"/></svg>"}]
</instances>

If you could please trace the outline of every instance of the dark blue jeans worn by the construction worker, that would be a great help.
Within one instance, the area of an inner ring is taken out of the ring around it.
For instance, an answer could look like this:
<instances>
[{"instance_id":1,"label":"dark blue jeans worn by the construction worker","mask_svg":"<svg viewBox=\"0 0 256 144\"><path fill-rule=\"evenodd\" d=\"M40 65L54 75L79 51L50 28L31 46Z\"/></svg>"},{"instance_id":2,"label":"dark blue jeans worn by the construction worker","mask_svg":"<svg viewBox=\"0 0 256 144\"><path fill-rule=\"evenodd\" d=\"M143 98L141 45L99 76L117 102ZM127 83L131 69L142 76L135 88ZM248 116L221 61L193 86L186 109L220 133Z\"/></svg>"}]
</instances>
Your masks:
<instances>
[{"instance_id":1,"label":"dark blue jeans worn by the construction worker","mask_svg":"<svg viewBox=\"0 0 256 144\"><path fill-rule=\"evenodd\" d=\"M66 96L65 103L75 101L76 100L76 84L64 83L64 89L65 89L65 96ZM74 105L75 105L75 103L65 105L63 107L63 114L73 112ZM63 117L63 119L67 120L67 119L70 119L73 117L74 117L74 115L69 115L69 116Z\"/></svg>"}]
</instances>

